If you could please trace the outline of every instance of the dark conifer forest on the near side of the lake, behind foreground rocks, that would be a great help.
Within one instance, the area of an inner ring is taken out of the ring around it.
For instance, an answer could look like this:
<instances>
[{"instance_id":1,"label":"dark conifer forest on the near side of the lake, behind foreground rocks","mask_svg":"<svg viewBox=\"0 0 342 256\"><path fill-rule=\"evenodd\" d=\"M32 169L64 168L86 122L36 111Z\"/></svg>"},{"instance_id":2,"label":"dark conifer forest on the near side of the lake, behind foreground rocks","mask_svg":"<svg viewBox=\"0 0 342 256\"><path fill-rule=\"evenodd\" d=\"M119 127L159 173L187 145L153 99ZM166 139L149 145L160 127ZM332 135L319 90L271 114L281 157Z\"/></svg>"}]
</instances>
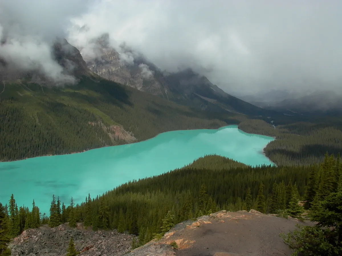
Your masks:
<instances>
[{"instance_id":1,"label":"dark conifer forest on the near side of the lake, behind foreground rocks","mask_svg":"<svg viewBox=\"0 0 342 256\"><path fill-rule=\"evenodd\" d=\"M299 255L341 255L342 164L339 155L328 154L319 165L289 167L250 167L206 156L184 168L128 182L96 198L88 195L81 204L74 205L72 198L61 202L53 195L49 216L42 216L34 202L30 209L18 207L12 195L0 205L0 241L5 248L10 238L25 229L65 222L75 227L76 222L83 222L93 230L136 234L136 246L140 246L176 223L219 210L256 209L301 218L304 207L300 200L318 224L283 234L285 243L304 253Z\"/></svg>"}]
</instances>

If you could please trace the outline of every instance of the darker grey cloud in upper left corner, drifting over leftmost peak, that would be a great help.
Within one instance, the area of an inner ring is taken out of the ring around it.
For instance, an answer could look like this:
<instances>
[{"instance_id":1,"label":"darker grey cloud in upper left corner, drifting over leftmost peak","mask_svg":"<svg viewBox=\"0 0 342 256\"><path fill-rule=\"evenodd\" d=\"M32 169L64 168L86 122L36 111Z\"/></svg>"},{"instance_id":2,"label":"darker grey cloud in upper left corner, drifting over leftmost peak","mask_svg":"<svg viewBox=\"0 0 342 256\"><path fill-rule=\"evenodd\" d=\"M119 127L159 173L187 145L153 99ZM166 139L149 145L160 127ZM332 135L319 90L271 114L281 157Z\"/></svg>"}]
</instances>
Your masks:
<instances>
[{"instance_id":1,"label":"darker grey cloud in upper left corner, drifting over leftmost peak","mask_svg":"<svg viewBox=\"0 0 342 256\"><path fill-rule=\"evenodd\" d=\"M65 37L70 19L86 11L88 0L0 1L0 58L20 71L39 71L57 84L74 83L52 56L52 45ZM72 68L72 67L69 67Z\"/></svg>"}]
</instances>

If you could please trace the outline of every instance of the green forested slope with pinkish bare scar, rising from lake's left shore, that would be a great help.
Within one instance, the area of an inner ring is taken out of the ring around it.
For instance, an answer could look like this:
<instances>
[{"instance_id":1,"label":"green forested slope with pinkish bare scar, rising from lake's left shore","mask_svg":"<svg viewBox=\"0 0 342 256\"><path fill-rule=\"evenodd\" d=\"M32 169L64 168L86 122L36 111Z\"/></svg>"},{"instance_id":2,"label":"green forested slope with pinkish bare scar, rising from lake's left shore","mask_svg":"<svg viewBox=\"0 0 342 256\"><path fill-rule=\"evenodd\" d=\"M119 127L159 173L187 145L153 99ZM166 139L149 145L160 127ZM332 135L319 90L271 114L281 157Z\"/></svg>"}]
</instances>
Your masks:
<instances>
[{"instance_id":1,"label":"green forested slope with pinkish bare scar, rising from lake's left shore","mask_svg":"<svg viewBox=\"0 0 342 256\"><path fill-rule=\"evenodd\" d=\"M226 114L218 120L99 77L65 87L27 79L0 85L0 91L0 161L80 152L170 130L219 128L243 118Z\"/></svg>"}]
</instances>

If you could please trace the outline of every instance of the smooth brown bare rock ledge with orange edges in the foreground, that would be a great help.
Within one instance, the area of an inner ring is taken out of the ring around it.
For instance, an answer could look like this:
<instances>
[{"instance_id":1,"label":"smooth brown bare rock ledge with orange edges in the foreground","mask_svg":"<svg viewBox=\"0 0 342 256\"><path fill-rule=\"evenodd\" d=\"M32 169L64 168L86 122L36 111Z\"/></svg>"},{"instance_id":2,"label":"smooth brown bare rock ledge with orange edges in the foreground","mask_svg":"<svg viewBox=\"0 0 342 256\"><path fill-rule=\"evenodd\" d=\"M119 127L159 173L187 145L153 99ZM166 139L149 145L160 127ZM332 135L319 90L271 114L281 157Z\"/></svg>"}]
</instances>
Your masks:
<instances>
[{"instance_id":1,"label":"smooth brown bare rock ledge with orange edges in the foreground","mask_svg":"<svg viewBox=\"0 0 342 256\"><path fill-rule=\"evenodd\" d=\"M279 233L293 230L299 223L298 219L279 218L253 209L219 211L179 223L162 239L136 248L127 256L290 255Z\"/></svg>"}]
</instances>

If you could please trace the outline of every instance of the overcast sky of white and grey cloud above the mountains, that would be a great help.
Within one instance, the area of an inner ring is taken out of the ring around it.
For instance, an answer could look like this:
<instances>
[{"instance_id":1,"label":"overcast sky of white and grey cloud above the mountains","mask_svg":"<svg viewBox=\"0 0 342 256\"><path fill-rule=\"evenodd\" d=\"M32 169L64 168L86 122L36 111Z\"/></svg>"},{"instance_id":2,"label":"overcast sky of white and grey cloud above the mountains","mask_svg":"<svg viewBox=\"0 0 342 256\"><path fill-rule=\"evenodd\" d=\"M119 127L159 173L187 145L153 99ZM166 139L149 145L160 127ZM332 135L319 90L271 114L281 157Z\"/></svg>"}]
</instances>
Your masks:
<instances>
[{"instance_id":1,"label":"overcast sky of white and grey cloud above the mountains","mask_svg":"<svg viewBox=\"0 0 342 256\"><path fill-rule=\"evenodd\" d=\"M2 0L0 24L10 53L29 61L56 36L89 57L107 32L113 46L126 42L162 70L191 67L228 93L342 90L341 0Z\"/></svg>"}]
</instances>

